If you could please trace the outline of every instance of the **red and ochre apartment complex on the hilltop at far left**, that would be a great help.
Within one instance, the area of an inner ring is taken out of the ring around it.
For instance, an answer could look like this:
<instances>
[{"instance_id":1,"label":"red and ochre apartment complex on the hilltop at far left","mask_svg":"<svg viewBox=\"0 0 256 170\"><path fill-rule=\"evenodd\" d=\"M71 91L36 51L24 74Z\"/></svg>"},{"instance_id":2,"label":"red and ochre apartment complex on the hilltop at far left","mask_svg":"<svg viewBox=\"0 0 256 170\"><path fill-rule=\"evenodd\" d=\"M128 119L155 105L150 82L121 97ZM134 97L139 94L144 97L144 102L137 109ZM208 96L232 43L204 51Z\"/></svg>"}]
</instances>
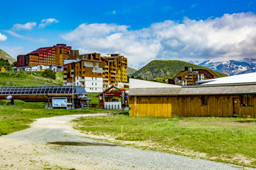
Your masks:
<instances>
[{"instance_id":1,"label":"red and ochre apartment complex on the hilltop at far left","mask_svg":"<svg viewBox=\"0 0 256 170\"><path fill-rule=\"evenodd\" d=\"M63 61L69 58L71 49L71 46L65 44L41 47L27 55L18 55L16 67L33 67L39 64L63 66Z\"/></svg>"}]
</instances>

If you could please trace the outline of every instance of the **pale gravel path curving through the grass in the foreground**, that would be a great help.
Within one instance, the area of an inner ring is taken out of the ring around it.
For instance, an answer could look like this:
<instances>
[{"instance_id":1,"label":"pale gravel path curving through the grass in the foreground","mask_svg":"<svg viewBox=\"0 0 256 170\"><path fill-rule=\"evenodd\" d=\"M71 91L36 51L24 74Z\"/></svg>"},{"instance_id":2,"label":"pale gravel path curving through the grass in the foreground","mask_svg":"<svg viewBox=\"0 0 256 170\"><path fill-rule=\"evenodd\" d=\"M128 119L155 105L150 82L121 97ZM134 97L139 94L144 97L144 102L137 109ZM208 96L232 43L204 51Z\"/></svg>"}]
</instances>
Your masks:
<instances>
[{"instance_id":1,"label":"pale gravel path curving through the grass in the foreground","mask_svg":"<svg viewBox=\"0 0 256 170\"><path fill-rule=\"evenodd\" d=\"M95 115L41 118L1 136L0 169L250 169L81 137L70 123L81 116Z\"/></svg>"}]
</instances>

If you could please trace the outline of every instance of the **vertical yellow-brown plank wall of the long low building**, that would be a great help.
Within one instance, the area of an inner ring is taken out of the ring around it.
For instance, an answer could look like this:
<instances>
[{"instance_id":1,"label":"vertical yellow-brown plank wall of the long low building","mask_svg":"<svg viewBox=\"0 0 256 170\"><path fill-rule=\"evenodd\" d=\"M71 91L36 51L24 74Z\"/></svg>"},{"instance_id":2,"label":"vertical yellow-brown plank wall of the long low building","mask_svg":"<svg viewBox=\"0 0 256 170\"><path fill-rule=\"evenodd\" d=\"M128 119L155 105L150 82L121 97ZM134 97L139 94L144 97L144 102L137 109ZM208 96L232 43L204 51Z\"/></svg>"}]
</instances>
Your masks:
<instances>
[{"instance_id":1,"label":"vertical yellow-brown plank wall of the long low building","mask_svg":"<svg viewBox=\"0 0 256 170\"><path fill-rule=\"evenodd\" d=\"M137 105L134 105L134 96L129 96L129 115L181 117L191 116L220 116L233 115L233 98L238 99L239 117L250 115L256 118L256 97L253 106L241 106L239 95L207 96L208 105L202 106L201 96L136 96Z\"/></svg>"}]
</instances>

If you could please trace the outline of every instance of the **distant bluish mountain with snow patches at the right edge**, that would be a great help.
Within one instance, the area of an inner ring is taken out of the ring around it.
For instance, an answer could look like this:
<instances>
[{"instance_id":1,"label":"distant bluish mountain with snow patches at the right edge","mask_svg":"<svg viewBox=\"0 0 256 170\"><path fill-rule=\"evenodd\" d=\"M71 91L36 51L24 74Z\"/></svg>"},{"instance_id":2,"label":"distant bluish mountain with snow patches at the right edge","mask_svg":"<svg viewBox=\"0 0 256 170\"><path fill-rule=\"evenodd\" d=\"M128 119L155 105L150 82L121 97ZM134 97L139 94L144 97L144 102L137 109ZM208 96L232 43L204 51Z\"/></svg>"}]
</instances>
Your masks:
<instances>
[{"instance_id":1,"label":"distant bluish mountain with snow patches at the right edge","mask_svg":"<svg viewBox=\"0 0 256 170\"><path fill-rule=\"evenodd\" d=\"M229 60L226 62L210 62L209 60L200 63L203 67L214 69L218 72L223 72L230 76L236 74L245 74L256 72L256 60L245 58L243 60Z\"/></svg>"}]
</instances>

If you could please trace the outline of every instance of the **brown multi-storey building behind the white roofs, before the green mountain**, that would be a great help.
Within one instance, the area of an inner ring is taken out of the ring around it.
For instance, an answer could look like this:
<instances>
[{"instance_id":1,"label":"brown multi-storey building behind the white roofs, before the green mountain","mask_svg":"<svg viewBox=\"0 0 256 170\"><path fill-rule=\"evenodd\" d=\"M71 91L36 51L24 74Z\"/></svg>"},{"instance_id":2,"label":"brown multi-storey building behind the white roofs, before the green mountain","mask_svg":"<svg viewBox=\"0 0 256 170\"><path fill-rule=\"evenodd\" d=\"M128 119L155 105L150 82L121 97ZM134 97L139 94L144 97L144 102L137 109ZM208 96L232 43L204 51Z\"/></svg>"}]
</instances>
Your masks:
<instances>
[{"instance_id":1,"label":"brown multi-storey building behind the white roofs, before the green mountain","mask_svg":"<svg viewBox=\"0 0 256 170\"><path fill-rule=\"evenodd\" d=\"M194 86L196 81L206 79L215 79L218 75L207 69L193 69L193 67L185 67L185 70L178 72L174 76L174 84L181 86Z\"/></svg>"}]
</instances>

